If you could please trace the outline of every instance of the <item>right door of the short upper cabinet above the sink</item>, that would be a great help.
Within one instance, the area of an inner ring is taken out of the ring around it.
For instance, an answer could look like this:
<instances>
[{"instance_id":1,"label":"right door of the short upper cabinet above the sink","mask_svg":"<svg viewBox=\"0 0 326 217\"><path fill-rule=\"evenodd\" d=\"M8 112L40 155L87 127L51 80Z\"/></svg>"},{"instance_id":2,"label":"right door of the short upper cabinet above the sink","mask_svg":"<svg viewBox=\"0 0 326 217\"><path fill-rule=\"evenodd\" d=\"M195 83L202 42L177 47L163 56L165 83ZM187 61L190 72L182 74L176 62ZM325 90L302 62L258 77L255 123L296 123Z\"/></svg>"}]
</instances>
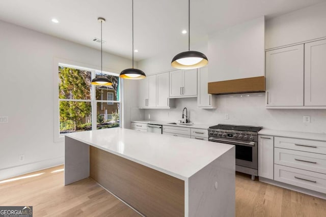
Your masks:
<instances>
[{"instance_id":1,"label":"right door of the short upper cabinet above the sink","mask_svg":"<svg viewBox=\"0 0 326 217\"><path fill-rule=\"evenodd\" d=\"M182 96L197 96L197 69L183 71Z\"/></svg>"}]
</instances>

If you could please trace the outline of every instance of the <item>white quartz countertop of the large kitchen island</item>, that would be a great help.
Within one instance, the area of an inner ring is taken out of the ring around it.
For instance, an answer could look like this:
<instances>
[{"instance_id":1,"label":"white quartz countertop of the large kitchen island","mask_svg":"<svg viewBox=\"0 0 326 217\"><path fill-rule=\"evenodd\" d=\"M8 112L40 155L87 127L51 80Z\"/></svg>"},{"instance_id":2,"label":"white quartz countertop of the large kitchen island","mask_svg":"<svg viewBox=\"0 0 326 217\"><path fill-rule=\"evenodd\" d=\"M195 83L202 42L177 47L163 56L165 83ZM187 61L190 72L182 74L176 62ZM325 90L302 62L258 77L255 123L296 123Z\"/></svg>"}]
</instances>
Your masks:
<instances>
[{"instance_id":1,"label":"white quartz countertop of the large kitchen island","mask_svg":"<svg viewBox=\"0 0 326 217\"><path fill-rule=\"evenodd\" d=\"M234 147L122 128L84 131L66 136L183 180Z\"/></svg>"}]
</instances>

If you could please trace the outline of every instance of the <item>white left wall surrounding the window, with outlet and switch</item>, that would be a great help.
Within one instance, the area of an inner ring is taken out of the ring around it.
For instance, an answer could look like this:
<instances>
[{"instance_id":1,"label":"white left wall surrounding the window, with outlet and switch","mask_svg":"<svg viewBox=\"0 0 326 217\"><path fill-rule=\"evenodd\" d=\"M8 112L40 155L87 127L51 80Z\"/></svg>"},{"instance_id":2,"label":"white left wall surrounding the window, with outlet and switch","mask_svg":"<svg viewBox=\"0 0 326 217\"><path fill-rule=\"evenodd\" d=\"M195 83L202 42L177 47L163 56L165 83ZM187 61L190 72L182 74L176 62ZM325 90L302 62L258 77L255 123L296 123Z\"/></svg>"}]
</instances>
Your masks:
<instances>
[{"instance_id":1,"label":"white left wall surrounding the window, with outlet and switch","mask_svg":"<svg viewBox=\"0 0 326 217\"><path fill-rule=\"evenodd\" d=\"M1 180L63 163L64 143L53 142L53 58L99 69L100 51L3 21L0 33L0 116L9 116L9 123L0 123ZM103 53L103 67L111 72L130 66L129 59ZM137 92L135 81L124 87ZM125 101L126 127L135 96Z\"/></svg>"}]
</instances>

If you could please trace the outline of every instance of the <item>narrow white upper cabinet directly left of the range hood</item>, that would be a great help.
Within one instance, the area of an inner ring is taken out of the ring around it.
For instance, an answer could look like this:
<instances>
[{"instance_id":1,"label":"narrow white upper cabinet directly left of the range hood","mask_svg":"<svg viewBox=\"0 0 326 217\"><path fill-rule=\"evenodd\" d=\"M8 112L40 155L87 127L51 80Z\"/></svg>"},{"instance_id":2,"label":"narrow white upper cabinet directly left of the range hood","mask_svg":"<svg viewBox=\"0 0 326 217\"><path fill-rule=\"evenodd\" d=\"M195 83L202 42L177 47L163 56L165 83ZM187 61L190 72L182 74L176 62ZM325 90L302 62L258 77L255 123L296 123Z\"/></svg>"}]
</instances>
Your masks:
<instances>
[{"instance_id":1,"label":"narrow white upper cabinet directly left of the range hood","mask_svg":"<svg viewBox=\"0 0 326 217\"><path fill-rule=\"evenodd\" d=\"M208 68L198 69L197 106L200 108L215 108L215 98L208 94Z\"/></svg>"}]
</instances>

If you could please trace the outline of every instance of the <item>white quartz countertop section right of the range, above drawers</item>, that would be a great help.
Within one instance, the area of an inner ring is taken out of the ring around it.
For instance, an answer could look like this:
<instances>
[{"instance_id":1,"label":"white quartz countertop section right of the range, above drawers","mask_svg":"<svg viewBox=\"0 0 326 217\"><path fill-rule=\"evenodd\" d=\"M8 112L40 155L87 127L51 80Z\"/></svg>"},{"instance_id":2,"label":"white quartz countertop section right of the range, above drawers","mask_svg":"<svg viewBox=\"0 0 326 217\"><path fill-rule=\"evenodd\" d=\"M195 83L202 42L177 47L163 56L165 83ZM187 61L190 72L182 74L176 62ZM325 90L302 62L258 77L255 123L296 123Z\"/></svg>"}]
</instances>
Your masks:
<instances>
[{"instance_id":1,"label":"white quartz countertop section right of the range, above drawers","mask_svg":"<svg viewBox=\"0 0 326 217\"><path fill-rule=\"evenodd\" d=\"M262 129L258 132L258 134L326 141L326 134L324 133L306 133L306 132L296 132L296 131Z\"/></svg>"}]
</instances>

